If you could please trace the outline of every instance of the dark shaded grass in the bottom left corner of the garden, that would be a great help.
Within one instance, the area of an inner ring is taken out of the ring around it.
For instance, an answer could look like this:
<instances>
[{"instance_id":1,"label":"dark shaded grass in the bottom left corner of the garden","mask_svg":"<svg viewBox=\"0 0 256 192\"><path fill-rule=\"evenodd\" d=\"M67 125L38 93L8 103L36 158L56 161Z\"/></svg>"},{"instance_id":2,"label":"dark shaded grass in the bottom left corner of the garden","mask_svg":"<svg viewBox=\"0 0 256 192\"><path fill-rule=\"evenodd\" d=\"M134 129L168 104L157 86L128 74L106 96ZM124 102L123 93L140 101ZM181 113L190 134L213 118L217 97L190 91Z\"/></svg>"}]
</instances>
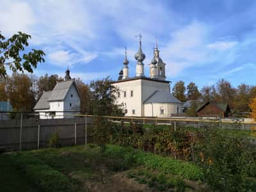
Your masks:
<instances>
[{"instance_id":1,"label":"dark shaded grass in the bottom left corner of the garden","mask_svg":"<svg viewBox=\"0 0 256 192\"><path fill-rule=\"evenodd\" d=\"M10 163L10 158L5 154L0 154L0 186L0 191L40 191L28 177L24 177L24 173Z\"/></svg>"}]
</instances>

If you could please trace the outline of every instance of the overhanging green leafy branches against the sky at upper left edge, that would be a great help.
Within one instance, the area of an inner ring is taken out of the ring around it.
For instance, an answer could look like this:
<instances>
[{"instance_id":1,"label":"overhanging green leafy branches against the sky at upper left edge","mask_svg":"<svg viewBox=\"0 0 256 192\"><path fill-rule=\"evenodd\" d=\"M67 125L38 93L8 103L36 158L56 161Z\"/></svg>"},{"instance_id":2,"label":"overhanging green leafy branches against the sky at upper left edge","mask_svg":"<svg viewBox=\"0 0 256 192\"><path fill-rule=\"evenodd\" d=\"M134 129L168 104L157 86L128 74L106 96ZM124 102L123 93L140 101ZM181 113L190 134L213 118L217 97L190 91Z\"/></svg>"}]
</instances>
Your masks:
<instances>
[{"instance_id":1,"label":"overhanging green leafy branches against the sky at upper left edge","mask_svg":"<svg viewBox=\"0 0 256 192\"><path fill-rule=\"evenodd\" d=\"M37 64L44 62L45 53L41 50L32 49L31 52L24 53L25 48L29 45L30 35L18 32L11 38L5 40L0 31L0 77L6 77L6 68L13 72L24 70L33 72Z\"/></svg>"}]
</instances>

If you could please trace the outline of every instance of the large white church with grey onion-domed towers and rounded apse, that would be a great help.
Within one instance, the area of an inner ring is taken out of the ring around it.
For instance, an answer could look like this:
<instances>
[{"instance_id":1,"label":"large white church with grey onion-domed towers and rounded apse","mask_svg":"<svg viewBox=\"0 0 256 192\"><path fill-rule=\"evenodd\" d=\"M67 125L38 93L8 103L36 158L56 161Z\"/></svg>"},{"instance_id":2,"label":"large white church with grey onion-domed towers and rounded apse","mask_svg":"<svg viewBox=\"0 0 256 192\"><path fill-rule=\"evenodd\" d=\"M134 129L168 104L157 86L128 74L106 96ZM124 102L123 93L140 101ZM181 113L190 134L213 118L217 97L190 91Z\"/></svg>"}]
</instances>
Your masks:
<instances>
[{"instance_id":1,"label":"large white church with grey onion-domed towers and rounded apse","mask_svg":"<svg viewBox=\"0 0 256 192\"><path fill-rule=\"evenodd\" d=\"M182 102L170 93L170 81L166 81L165 63L159 56L159 49L154 48L154 56L149 64L149 77L144 74L145 54L140 48L134 55L137 60L136 76L129 77L129 61L125 50L124 67L118 81L113 86L119 92L116 102L124 109L125 116L170 117L182 112Z\"/></svg>"}]
</instances>

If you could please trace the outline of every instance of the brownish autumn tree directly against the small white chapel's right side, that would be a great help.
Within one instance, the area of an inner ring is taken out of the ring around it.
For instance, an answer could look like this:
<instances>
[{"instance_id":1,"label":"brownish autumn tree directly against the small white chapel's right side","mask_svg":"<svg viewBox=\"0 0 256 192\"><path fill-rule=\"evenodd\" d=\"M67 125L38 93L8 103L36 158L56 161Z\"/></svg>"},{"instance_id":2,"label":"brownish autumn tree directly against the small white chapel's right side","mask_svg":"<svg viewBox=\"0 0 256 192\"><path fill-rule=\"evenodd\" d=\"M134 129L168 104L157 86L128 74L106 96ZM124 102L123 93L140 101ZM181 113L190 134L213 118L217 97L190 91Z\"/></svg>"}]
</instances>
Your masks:
<instances>
[{"instance_id":1,"label":"brownish autumn tree directly against the small white chapel's right side","mask_svg":"<svg viewBox=\"0 0 256 192\"><path fill-rule=\"evenodd\" d=\"M92 94L90 92L90 88L87 84L84 84L80 78L76 79L77 89L81 95L81 112L88 113L90 109L90 99L92 98Z\"/></svg>"}]
</instances>

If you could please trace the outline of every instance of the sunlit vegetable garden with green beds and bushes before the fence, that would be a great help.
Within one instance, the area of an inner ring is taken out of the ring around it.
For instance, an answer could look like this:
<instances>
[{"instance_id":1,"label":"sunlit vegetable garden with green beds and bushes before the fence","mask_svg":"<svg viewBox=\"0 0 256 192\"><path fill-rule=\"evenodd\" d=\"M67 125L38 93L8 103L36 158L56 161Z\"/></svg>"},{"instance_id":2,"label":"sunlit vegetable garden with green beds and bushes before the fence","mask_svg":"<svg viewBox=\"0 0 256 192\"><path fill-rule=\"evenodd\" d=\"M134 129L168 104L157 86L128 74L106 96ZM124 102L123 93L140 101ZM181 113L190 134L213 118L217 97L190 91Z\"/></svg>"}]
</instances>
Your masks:
<instances>
[{"instance_id":1,"label":"sunlit vegetable garden with green beds and bushes before the fence","mask_svg":"<svg viewBox=\"0 0 256 192\"><path fill-rule=\"evenodd\" d=\"M37 191L256 191L253 131L116 124L102 118L92 141L2 154ZM57 148L56 148L57 147Z\"/></svg>"}]
</instances>

